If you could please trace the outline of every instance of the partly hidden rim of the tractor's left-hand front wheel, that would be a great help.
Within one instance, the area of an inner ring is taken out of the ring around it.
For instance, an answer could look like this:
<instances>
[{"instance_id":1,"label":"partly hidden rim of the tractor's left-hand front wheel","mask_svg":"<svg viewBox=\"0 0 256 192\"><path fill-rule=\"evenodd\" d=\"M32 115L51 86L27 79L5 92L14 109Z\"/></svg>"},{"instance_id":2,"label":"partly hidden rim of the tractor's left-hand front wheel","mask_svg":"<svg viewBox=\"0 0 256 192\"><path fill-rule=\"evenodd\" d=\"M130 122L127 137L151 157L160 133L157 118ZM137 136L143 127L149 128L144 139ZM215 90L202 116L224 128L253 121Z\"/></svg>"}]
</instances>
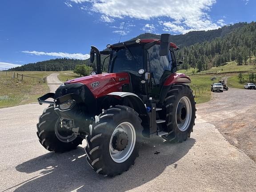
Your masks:
<instances>
[{"instance_id":1,"label":"partly hidden rim of the tractor's left-hand front wheel","mask_svg":"<svg viewBox=\"0 0 256 192\"><path fill-rule=\"evenodd\" d=\"M61 124L62 123L60 121L60 118L58 118L54 128L56 137L64 143L68 143L75 140L76 135L74 134L74 132L72 132L70 129L63 128Z\"/></svg>"}]
</instances>

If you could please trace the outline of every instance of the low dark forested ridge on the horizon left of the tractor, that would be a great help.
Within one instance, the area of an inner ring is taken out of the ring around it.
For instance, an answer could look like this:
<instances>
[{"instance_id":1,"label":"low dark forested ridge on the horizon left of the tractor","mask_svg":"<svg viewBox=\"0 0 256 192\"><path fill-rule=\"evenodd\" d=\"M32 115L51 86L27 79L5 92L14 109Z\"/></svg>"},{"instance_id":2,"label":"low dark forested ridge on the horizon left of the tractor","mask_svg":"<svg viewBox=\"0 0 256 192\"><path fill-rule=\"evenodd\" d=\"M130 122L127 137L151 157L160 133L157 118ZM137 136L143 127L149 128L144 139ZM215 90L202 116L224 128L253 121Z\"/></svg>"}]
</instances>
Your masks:
<instances>
[{"instance_id":1,"label":"low dark forested ridge on the horizon left of the tractor","mask_svg":"<svg viewBox=\"0 0 256 192\"><path fill-rule=\"evenodd\" d=\"M11 68L11 71L68 71L74 70L77 64L89 64L89 60L75 59L52 59L37 63L25 64L20 67Z\"/></svg>"}]
</instances>

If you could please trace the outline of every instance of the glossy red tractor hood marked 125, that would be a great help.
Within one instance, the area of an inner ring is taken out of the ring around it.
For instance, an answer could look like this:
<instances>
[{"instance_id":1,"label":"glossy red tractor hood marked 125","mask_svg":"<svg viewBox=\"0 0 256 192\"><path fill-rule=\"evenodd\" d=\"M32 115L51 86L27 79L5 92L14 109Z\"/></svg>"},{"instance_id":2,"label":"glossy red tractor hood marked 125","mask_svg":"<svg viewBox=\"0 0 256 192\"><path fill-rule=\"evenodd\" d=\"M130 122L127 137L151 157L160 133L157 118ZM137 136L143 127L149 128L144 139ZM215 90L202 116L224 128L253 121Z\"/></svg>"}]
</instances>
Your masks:
<instances>
[{"instance_id":1,"label":"glossy red tractor hood marked 125","mask_svg":"<svg viewBox=\"0 0 256 192\"><path fill-rule=\"evenodd\" d=\"M99 81L99 85L92 88L92 83ZM123 84L130 84L128 73L104 73L91 76L84 76L65 82L85 84L92 92L95 98L105 96L111 92L121 92Z\"/></svg>"}]
</instances>

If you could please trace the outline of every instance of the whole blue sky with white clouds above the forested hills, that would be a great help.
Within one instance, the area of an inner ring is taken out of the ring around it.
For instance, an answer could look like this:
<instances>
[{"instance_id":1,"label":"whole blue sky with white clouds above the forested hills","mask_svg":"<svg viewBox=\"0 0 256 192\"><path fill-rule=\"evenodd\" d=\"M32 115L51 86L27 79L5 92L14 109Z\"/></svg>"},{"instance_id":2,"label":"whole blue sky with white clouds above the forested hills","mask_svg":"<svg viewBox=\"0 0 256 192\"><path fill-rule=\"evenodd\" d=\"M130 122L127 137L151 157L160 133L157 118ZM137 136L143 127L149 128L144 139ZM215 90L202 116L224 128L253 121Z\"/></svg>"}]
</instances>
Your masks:
<instances>
[{"instance_id":1,"label":"whole blue sky with white clouds above the forested hills","mask_svg":"<svg viewBox=\"0 0 256 192\"><path fill-rule=\"evenodd\" d=\"M144 32L184 34L256 21L256 0L1 0L0 68L86 59Z\"/></svg>"}]
</instances>

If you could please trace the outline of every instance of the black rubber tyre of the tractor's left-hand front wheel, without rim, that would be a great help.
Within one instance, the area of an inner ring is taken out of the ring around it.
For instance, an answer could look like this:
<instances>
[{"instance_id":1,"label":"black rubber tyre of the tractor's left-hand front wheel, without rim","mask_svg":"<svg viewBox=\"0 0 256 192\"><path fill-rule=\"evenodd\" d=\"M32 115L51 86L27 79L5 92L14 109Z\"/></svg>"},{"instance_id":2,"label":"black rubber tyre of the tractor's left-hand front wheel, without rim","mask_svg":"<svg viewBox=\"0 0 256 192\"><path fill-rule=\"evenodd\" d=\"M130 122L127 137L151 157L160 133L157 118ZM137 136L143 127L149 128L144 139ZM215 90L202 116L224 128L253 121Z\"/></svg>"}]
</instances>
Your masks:
<instances>
[{"instance_id":1,"label":"black rubber tyre of the tractor's left-hand front wheel, without rim","mask_svg":"<svg viewBox=\"0 0 256 192\"><path fill-rule=\"evenodd\" d=\"M50 152L68 152L76 149L79 144L82 144L82 138L76 137L71 142L62 142L56 136L56 123L59 121L59 116L54 111L53 105L46 108L43 114L39 117L37 124L37 136L39 142Z\"/></svg>"}]
</instances>

